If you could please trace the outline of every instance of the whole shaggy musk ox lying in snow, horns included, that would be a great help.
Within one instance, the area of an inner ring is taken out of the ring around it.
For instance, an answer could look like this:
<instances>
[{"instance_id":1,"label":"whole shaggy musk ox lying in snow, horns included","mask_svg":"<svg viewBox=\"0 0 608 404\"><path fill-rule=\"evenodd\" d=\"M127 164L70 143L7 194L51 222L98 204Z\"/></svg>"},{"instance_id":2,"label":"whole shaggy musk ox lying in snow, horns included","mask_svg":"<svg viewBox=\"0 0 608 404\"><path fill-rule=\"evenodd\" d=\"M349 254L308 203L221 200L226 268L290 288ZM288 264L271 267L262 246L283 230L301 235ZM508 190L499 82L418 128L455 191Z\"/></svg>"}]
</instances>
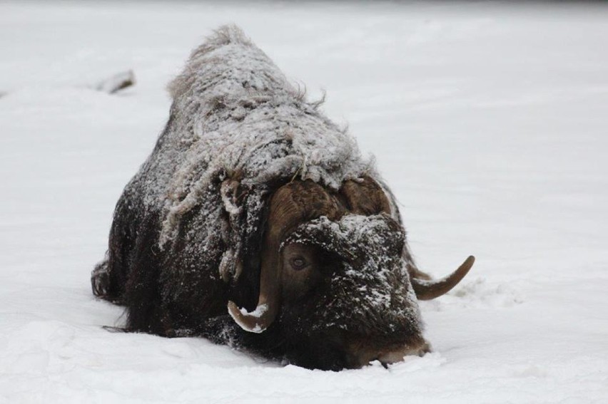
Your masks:
<instances>
[{"instance_id":1,"label":"whole shaggy musk ox lying in snow, horns included","mask_svg":"<svg viewBox=\"0 0 608 404\"><path fill-rule=\"evenodd\" d=\"M91 278L126 306L126 330L330 370L427 352L417 300L473 258L439 281L418 271L373 164L238 28L196 48L169 89Z\"/></svg>"}]
</instances>

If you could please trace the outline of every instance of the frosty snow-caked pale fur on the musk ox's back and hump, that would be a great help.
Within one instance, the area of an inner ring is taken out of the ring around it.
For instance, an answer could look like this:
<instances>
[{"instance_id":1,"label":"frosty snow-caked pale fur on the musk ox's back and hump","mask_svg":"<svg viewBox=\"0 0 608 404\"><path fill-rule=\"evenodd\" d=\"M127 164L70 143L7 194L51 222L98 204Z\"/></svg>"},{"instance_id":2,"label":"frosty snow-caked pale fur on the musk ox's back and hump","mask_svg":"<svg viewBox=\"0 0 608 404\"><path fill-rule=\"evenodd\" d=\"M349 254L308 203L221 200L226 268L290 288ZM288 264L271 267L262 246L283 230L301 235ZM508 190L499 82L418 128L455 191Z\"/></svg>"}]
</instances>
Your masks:
<instances>
[{"instance_id":1,"label":"frosty snow-caked pale fur on the musk ox's back and hump","mask_svg":"<svg viewBox=\"0 0 608 404\"><path fill-rule=\"evenodd\" d=\"M344 180L375 172L355 140L320 113L318 103L308 103L236 26L221 27L196 48L168 89L171 117L141 169L143 202L161 212L161 246L226 178L244 187L248 209L261 209L270 185L282 180L299 177L338 189ZM242 242L255 224L237 207L227 208L241 232L232 242ZM209 231L209 219L201 230Z\"/></svg>"}]
</instances>

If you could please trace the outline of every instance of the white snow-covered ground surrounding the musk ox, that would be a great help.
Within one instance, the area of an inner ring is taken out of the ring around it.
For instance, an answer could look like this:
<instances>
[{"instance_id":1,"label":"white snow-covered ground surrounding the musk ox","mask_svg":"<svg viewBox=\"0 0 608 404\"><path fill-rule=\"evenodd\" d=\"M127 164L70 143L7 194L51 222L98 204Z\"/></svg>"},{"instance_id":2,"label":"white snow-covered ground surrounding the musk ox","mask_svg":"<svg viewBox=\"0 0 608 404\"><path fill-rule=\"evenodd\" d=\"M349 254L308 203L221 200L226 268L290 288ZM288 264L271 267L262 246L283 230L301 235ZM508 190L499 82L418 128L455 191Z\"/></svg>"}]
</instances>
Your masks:
<instances>
[{"instance_id":1,"label":"white snow-covered ground surrounding the musk ox","mask_svg":"<svg viewBox=\"0 0 608 404\"><path fill-rule=\"evenodd\" d=\"M328 373L101 328L114 204L228 22L327 90L422 269L477 257L421 305L433 353ZM0 49L0 403L608 402L608 5L0 3Z\"/></svg>"}]
</instances>

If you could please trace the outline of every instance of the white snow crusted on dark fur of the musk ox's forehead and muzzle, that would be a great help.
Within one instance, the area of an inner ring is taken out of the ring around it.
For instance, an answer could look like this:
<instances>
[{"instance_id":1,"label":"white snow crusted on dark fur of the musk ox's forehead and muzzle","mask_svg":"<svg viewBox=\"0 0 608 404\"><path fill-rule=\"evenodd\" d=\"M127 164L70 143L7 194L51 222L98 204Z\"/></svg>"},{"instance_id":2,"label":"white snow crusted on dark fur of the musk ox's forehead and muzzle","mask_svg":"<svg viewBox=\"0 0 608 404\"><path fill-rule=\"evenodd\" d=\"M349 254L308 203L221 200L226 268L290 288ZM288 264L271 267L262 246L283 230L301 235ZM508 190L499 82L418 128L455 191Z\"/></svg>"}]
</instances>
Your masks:
<instances>
[{"instance_id":1,"label":"white snow crusted on dark fur of the musk ox's forehead and muzzle","mask_svg":"<svg viewBox=\"0 0 608 404\"><path fill-rule=\"evenodd\" d=\"M338 254L342 262L342 270L330 282L332 299L314 311L325 321L311 324L312 328L348 330L363 324L384 333L386 327L397 333L404 328L407 333L420 332L420 310L407 272L412 263L400 254L405 230L395 219L387 214L348 214L334 222L323 216L300 224L283 246L292 243L315 245Z\"/></svg>"}]
</instances>

